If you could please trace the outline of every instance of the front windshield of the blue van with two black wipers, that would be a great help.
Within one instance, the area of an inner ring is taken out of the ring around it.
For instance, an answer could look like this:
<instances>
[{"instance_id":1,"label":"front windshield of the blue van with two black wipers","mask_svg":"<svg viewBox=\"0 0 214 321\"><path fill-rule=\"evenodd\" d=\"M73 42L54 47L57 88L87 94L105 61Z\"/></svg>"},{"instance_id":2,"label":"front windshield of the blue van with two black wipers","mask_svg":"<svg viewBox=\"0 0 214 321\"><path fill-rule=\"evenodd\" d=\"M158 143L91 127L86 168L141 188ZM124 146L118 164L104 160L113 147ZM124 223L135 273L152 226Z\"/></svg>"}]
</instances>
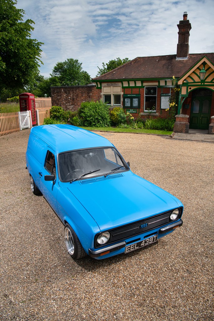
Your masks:
<instances>
[{"instance_id":1,"label":"front windshield of the blue van with two black wipers","mask_svg":"<svg viewBox=\"0 0 214 321\"><path fill-rule=\"evenodd\" d=\"M58 155L58 168L59 178L62 182L71 182L77 180L77 178L85 179L110 175L129 169L121 155L113 147L89 148L60 153ZM87 174L84 175L85 173Z\"/></svg>"}]
</instances>

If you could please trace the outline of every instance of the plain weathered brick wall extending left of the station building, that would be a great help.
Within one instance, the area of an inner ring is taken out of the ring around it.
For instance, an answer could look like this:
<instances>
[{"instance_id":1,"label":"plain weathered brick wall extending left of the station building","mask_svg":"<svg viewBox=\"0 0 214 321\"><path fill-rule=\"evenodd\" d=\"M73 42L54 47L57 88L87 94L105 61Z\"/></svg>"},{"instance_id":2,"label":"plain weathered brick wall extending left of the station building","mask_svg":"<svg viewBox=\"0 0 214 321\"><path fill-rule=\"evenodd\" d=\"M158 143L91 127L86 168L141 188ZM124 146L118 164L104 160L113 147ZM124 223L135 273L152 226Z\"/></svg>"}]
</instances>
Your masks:
<instances>
[{"instance_id":1,"label":"plain weathered brick wall extending left of the station building","mask_svg":"<svg viewBox=\"0 0 214 321\"><path fill-rule=\"evenodd\" d=\"M83 101L100 100L101 89L96 89L96 85L51 87L51 99L52 106L75 111Z\"/></svg>"}]
</instances>

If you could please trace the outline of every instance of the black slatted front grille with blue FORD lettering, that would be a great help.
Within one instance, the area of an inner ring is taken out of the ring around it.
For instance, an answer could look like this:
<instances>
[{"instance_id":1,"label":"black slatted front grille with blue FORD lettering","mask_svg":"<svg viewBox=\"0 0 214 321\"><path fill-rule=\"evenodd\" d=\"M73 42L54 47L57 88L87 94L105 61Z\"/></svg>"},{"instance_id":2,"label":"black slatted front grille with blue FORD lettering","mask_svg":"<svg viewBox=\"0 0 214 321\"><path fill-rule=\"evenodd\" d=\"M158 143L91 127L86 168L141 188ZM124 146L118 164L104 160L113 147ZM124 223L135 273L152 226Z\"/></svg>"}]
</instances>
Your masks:
<instances>
[{"instance_id":1,"label":"black slatted front grille with blue FORD lettering","mask_svg":"<svg viewBox=\"0 0 214 321\"><path fill-rule=\"evenodd\" d=\"M119 227L116 227L114 229L108 230L111 233L111 238L110 240L105 244L105 245L109 245L112 243L116 243L116 242L120 242L120 241L124 241L125 239L129 239L133 236L145 233L145 232L149 232L151 230L154 229L159 229L160 227L167 225L169 223L172 223L172 221L170 220L170 215L173 212L173 210L171 211L167 211L164 213L160 213L154 216L150 216L146 219L142 219L140 221L136 221L133 223L129 223L126 225L122 225ZM180 215L178 217L178 219L181 217L182 214L182 208L180 208ZM147 224L147 226L145 226ZM145 226L143 228L141 228L141 226ZM102 245L98 245L96 243L97 237L99 234L97 234L95 236L95 247L100 247Z\"/></svg>"}]
</instances>

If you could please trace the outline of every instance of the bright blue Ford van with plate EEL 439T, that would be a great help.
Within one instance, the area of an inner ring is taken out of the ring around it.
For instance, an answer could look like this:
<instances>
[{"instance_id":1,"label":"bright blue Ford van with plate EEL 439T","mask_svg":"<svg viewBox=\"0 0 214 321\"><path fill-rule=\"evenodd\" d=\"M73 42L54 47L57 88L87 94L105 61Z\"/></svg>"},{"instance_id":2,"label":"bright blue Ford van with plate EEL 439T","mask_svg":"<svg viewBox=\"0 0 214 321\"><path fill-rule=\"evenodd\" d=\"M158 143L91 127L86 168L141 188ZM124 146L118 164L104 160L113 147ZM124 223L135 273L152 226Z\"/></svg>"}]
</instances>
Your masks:
<instances>
[{"instance_id":1,"label":"bright blue Ford van with plate EEL 439T","mask_svg":"<svg viewBox=\"0 0 214 321\"><path fill-rule=\"evenodd\" d=\"M26 168L64 224L73 259L103 259L157 242L181 226L183 204L135 175L106 138L71 125L31 129Z\"/></svg>"}]
</instances>

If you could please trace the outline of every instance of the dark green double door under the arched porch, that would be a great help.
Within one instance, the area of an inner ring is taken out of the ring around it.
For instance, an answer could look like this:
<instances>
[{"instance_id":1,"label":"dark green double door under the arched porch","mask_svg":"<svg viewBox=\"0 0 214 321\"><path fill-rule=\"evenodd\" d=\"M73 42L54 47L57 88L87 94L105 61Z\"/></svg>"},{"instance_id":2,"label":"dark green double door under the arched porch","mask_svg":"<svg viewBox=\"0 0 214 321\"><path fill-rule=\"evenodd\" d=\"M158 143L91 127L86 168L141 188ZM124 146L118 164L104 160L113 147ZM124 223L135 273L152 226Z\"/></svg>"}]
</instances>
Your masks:
<instances>
[{"instance_id":1,"label":"dark green double door under the arched porch","mask_svg":"<svg viewBox=\"0 0 214 321\"><path fill-rule=\"evenodd\" d=\"M208 129L210 123L211 97L193 97L190 128Z\"/></svg>"}]
</instances>

